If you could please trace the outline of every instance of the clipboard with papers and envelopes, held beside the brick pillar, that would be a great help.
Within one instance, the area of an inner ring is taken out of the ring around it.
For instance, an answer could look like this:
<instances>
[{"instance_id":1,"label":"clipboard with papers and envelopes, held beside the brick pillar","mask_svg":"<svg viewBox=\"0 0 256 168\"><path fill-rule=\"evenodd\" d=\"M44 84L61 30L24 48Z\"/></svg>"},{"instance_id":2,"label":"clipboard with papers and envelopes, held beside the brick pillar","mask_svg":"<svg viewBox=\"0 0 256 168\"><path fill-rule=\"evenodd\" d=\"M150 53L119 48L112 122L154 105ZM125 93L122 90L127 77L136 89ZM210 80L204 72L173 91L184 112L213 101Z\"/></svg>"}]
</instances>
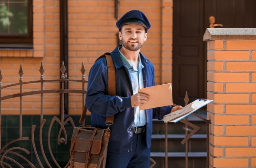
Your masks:
<instances>
[{"instance_id":1,"label":"clipboard with papers and envelopes, held beside the brick pillar","mask_svg":"<svg viewBox=\"0 0 256 168\"><path fill-rule=\"evenodd\" d=\"M187 106L185 106L183 109L177 110L175 112L165 115L164 122L176 123L212 101L213 100L208 100L208 99L197 99L192 103L188 104Z\"/></svg>"}]
</instances>

